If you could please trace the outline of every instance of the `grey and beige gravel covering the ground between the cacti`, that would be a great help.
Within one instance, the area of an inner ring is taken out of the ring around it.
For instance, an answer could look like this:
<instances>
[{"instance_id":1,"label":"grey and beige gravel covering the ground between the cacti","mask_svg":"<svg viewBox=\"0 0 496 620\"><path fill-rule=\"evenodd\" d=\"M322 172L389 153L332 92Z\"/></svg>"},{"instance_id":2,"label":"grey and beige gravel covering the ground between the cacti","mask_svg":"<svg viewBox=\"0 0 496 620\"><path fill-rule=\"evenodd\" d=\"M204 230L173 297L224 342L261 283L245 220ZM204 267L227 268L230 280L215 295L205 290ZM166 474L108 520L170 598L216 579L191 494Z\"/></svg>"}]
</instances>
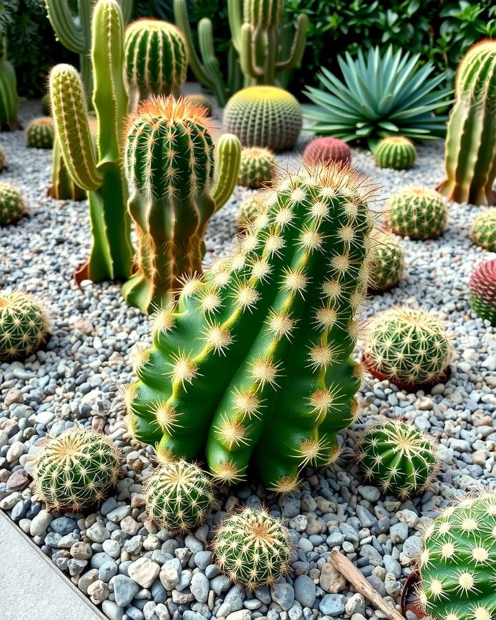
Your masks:
<instances>
[{"instance_id":1,"label":"grey and beige gravel covering the ground between the cacti","mask_svg":"<svg viewBox=\"0 0 496 620\"><path fill-rule=\"evenodd\" d=\"M37 103L23 104L24 122L37 115ZM127 307L116 285L75 287L72 270L90 243L85 202L45 196L50 152L26 149L21 132L0 134L0 143L10 165L1 180L17 185L30 209L17 227L2 229L1 287L31 291L52 317L45 350L25 362L0 364L0 508L112 620L381 618L349 591L328 564L329 552L345 553L387 601L398 603L422 529L453 497L481 482L495 486L495 329L475 317L466 293L473 267L490 256L468 239L482 209L450 205L442 238L402 240L404 278L364 307L364 317L397 303L437 312L453 338L451 380L426 395L405 394L389 382L367 378L362 421L342 433L338 464L309 469L301 489L287 497L267 493L255 482L232 488L220 496L207 524L177 537L158 530L144 512L142 484L152 470L152 448L130 440L117 389L132 378L130 351L149 342L147 319ZM300 151L303 145L304 140ZM353 163L382 185L380 198L386 198L403 185L435 185L442 178L442 152L442 143L420 147L407 172L378 169L360 149L353 149ZM296 154L278 157L283 169L295 162ZM236 209L249 193L236 188L211 220L207 260L226 250L236 232ZM378 211L383 208L378 200ZM380 414L410 417L440 441L440 475L422 497L406 502L380 497L353 466L358 434ZM48 513L28 486L28 456L41 437L74 421L109 433L123 451L122 477L116 495L96 513ZM289 528L292 572L272 588L245 592L212 564L212 529L240 502L265 503Z\"/></svg>"}]
</instances>

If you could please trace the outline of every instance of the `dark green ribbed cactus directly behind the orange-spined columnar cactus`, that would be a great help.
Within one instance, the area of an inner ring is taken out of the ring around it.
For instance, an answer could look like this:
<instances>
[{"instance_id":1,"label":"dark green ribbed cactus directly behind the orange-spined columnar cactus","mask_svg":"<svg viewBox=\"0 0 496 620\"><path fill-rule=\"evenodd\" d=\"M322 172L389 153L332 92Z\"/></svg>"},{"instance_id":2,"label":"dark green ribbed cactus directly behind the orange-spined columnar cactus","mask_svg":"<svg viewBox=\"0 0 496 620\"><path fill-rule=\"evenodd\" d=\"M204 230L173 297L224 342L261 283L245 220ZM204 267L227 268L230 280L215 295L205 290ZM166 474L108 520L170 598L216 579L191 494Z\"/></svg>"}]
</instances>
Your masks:
<instances>
[{"instance_id":1,"label":"dark green ribbed cactus directly behind the orange-spined columnar cactus","mask_svg":"<svg viewBox=\"0 0 496 620\"><path fill-rule=\"evenodd\" d=\"M138 19L125 32L125 67L131 107L150 95L180 95L188 56L183 33L173 23Z\"/></svg>"}]
</instances>

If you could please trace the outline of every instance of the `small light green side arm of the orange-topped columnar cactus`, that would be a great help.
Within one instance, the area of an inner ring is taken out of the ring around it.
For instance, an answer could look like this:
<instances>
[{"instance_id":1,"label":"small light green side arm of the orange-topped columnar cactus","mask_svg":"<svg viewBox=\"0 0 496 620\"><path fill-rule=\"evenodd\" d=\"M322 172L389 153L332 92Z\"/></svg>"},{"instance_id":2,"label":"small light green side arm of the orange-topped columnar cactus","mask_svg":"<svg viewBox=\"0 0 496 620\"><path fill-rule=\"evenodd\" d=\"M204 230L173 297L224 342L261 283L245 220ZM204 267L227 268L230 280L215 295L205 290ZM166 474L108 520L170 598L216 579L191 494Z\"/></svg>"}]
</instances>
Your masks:
<instances>
[{"instance_id":1,"label":"small light green side arm of the orange-topped columnar cactus","mask_svg":"<svg viewBox=\"0 0 496 620\"><path fill-rule=\"evenodd\" d=\"M233 134L220 137L216 147L216 178L212 198L215 210L223 207L236 187L241 161L241 143Z\"/></svg>"}]
</instances>

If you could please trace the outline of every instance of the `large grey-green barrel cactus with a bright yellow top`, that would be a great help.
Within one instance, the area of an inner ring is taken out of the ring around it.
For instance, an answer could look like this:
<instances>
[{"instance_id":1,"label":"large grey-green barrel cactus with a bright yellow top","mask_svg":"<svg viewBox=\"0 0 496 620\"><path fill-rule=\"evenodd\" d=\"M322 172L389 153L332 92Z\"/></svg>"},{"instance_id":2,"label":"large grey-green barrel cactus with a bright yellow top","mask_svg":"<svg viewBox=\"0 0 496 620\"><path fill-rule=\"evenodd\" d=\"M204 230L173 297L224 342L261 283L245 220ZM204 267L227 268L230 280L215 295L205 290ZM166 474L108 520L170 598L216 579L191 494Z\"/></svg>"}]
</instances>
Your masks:
<instances>
[{"instance_id":1,"label":"large grey-green barrel cactus with a bright yellow top","mask_svg":"<svg viewBox=\"0 0 496 620\"><path fill-rule=\"evenodd\" d=\"M245 147L273 151L291 149L300 135L300 104L287 90L276 86L249 86L231 96L224 110L225 130Z\"/></svg>"}]
</instances>

